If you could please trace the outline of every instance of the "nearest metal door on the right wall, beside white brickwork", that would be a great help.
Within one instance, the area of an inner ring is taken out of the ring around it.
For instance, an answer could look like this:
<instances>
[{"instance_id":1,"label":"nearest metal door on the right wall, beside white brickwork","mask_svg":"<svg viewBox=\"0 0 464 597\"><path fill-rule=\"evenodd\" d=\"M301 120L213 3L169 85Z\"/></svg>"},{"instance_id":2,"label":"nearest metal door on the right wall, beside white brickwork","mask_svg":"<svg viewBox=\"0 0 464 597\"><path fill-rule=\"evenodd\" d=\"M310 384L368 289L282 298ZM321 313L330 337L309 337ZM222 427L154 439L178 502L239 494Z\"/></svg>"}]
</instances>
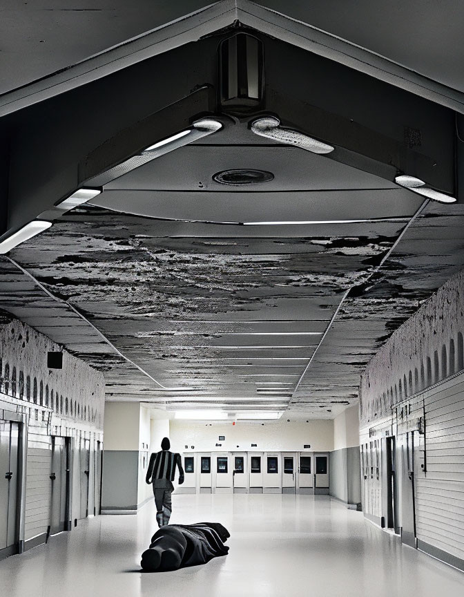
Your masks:
<instances>
[{"instance_id":1,"label":"nearest metal door on the right wall, beside white brickwork","mask_svg":"<svg viewBox=\"0 0 464 597\"><path fill-rule=\"evenodd\" d=\"M418 445L418 431L409 431L398 435L398 485L400 485L400 527L401 541L410 547L416 545L416 507L414 487L414 451Z\"/></svg>"}]
</instances>

